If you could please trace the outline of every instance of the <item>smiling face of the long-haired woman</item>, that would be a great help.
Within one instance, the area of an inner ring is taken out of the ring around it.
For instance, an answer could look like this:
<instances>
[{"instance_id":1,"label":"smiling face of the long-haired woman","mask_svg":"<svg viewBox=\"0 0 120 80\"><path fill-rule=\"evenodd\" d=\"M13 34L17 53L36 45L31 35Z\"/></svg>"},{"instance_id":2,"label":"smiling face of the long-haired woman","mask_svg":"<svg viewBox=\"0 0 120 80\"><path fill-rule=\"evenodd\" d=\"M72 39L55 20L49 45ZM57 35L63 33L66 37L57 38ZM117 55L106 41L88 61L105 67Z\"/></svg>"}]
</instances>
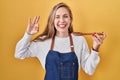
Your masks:
<instances>
[{"instance_id":1,"label":"smiling face of the long-haired woman","mask_svg":"<svg viewBox=\"0 0 120 80\"><path fill-rule=\"evenodd\" d=\"M65 7L61 7L56 11L54 26L57 32L68 33L68 28L70 26L71 19L68 10Z\"/></svg>"}]
</instances>

